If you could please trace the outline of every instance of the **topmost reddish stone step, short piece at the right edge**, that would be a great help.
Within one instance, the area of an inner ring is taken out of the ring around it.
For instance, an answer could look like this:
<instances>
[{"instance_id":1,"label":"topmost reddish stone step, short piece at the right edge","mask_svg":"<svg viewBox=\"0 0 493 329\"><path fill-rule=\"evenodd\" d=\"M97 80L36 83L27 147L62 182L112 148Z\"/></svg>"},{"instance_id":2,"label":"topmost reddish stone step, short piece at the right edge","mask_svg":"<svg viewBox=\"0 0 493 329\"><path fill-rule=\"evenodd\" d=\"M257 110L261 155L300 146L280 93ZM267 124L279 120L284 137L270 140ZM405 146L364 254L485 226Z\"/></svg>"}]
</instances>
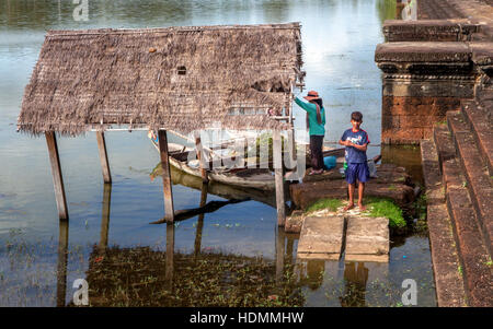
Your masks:
<instances>
[{"instance_id":1,"label":"topmost reddish stone step, short piece at the right edge","mask_svg":"<svg viewBox=\"0 0 493 329\"><path fill-rule=\"evenodd\" d=\"M490 110L475 101L462 105L462 115L473 133L478 150L486 164L490 176L493 176L493 132L488 114Z\"/></svg>"}]
</instances>

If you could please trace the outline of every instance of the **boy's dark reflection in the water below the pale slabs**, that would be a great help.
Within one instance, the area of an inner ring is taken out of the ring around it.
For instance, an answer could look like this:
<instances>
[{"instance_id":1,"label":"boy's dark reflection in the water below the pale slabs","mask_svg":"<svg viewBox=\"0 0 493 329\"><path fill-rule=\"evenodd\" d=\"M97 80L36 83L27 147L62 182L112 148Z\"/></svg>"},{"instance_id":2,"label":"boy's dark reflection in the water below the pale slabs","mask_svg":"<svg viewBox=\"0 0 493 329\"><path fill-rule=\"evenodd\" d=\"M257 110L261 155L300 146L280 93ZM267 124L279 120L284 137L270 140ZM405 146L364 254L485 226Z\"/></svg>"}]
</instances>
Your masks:
<instances>
[{"instance_id":1,"label":"boy's dark reflection in the water below the pale slabs","mask_svg":"<svg viewBox=\"0 0 493 329\"><path fill-rule=\"evenodd\" d=\"M366 306L366 282L368 281L368 269L364 262L348 262L344 269L344 281L346 283L344 295L339 297L342 307Z\"/></svg>"}]
</instances>

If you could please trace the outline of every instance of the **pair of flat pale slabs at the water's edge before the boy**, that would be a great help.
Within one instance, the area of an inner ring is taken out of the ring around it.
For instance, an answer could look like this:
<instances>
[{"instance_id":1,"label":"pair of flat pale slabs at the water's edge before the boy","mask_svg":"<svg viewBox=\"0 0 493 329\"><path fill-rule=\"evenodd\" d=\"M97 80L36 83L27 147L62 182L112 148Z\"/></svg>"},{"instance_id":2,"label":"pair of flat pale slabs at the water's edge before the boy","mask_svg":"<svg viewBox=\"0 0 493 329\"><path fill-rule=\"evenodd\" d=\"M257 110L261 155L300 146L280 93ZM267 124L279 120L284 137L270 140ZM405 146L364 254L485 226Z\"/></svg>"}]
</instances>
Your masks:
<instances>
[{"instance_id":1,"label":"pair of flat pale slabs at the water's edge before the boy","mask_svg":"<svg viewBox=\"0 0 493 329\"><path fill-rule=\"evenodd\" d=\"M299 259L389 261L389 226L383 218L322 215L305 219Z\"/></svg>"}]
</instances>

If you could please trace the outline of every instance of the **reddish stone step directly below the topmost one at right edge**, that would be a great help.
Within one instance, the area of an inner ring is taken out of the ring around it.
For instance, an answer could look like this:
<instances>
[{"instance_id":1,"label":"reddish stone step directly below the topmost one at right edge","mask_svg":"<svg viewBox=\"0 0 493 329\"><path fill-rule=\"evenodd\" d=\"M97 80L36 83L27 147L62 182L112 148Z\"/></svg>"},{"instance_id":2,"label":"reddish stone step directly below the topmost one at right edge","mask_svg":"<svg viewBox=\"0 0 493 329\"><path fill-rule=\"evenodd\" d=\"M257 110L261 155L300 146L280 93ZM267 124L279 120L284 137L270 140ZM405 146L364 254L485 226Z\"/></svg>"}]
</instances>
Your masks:
<instances>
[{"instance_id":1,"label":"reddish stone step directly below the topmost one at right edge","mask_svg":"<svg viewBox=\"0 0 493 329\"><path fill-rule=\"evenodd\" d=\"M478 224L483 233L486 249L492 255L493 237L493 186L485 168L472 132L469 130L462 114L447 113L447 122L452 132L458 160L462 166L466 187L475 211Z\"/></svg>"}]
</instances>

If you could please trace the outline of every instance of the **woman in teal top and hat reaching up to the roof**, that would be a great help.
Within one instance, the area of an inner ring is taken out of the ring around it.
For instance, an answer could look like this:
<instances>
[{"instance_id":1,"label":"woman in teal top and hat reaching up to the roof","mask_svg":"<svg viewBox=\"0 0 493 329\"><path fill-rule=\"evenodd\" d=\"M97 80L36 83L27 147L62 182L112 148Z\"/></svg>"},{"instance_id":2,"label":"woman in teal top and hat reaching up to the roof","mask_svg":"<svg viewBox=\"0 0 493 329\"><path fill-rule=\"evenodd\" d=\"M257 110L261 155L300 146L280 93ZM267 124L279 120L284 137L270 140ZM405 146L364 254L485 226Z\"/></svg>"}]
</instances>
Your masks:
<instances>
[{"instance_id":1,"label":"woman in teal top and hat reaching up to the roof","mask_svg":"<svg viewBox=\"0 0 493 329\"><path fill-rule=\"evenodd\" d=\"M311 173L309 175L318 175L323 173L323 153L322 144L325 136L325 109L323 108L322 98L314 91L308 92L303 97L309 103L302 102L296 97L295 102L307 111L307 128L310 133L310 154L311 154Z\"/></svg>"}]
</instances>

